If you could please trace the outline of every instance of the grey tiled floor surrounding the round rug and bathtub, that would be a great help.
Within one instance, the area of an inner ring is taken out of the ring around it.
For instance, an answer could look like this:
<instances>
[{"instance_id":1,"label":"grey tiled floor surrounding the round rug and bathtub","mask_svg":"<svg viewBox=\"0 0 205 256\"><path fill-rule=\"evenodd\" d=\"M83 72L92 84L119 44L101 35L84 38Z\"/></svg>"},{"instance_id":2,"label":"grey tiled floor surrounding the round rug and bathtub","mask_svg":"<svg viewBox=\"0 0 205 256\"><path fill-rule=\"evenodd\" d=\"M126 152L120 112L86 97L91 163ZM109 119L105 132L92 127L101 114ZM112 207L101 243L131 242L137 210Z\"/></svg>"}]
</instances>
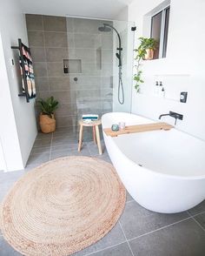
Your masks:
<instances>
[{"instance_id":1,"label":"grey tiled floor surrounding the round rug and bathtub","mask_svg":"<svg viewBox=\"0 0 205 256\"><path fill-rule=\"evenodd\" d=\"M101 134L102 138L102 134ZM50 159L83 155L110 162L102 140L99 156L92 134L84 135L83 149L77 152L78 133L61 128L51 134L39 133L25 170L0 172L0 203L23 173ZM205 201L188 212L162 214L150 212L127 194L125 209L116 226L103 239L75 256L203 256L205 254ZM17 256L0 232L0 255Z\"/></svg>"}]
</instances>

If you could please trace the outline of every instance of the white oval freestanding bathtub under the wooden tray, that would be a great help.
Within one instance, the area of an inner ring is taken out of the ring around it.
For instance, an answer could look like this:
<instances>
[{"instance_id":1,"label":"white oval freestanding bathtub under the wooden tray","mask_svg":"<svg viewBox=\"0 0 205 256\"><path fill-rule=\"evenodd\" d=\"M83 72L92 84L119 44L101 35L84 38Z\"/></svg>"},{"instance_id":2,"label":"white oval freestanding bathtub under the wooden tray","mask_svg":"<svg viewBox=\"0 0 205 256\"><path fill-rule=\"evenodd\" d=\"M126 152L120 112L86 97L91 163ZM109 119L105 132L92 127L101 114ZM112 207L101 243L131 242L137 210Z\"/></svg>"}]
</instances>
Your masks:
<instances>
[{"instance_id":1,"label":"white oval freestanding bathtub under the wooden tray","mask_svg":"<svg viewBox=\"0 0 205 256\"><path fill-rule=\"evenodd\" d=\"M154 123L129 113L102 116L102 129ZM186 211L205 199L205 142L182 131L146 131L109 137L109 157L122 183L140 205L154 212Z\"/></svg>"}]
</instances>

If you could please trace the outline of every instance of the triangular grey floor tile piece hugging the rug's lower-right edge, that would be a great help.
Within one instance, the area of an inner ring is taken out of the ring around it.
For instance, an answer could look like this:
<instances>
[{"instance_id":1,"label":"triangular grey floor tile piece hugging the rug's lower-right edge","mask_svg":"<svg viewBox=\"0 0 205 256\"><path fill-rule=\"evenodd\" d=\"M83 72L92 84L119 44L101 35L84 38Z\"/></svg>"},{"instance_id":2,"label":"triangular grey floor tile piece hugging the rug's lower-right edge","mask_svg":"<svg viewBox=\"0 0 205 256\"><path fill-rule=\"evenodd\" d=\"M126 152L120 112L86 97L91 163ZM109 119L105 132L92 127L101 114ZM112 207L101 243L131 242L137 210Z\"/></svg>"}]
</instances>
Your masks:
<instances>
[{"instance_id":1,"label":"triangular grey floor tile piece hugging the rug's lower-right edge","mask_svg":"<svg viewBox=\"0 0 205 256\"><path fill-rule=\"evenodd\" d=\"M83 256L88 253L95 253L98 250L102 250L109 246L115 246L119 243L125 242L125 238L119 223L114 226L114 228L96 244L85 248L83 251L75 253L75 256Z\"/></svg>"}]
</instances>

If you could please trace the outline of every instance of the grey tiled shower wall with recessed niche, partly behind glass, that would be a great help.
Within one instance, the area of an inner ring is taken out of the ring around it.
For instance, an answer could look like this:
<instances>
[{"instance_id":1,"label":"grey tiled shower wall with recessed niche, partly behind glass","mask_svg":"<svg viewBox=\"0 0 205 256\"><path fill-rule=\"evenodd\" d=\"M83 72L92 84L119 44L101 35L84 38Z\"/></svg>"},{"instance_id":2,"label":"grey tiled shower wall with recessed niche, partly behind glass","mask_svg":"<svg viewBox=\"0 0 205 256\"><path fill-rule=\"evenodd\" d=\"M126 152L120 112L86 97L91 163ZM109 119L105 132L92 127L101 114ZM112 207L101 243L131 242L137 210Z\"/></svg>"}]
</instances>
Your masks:
<instances>
[{"instance_id":1,"label":"grey tiled shower wall with recessed niche, partly behind glass","mask_svg":"<svg viewBox=\"0 0 205 256\"><path fill-rule=\"evenodd\" d=\"M76 126L83 113L112 111L113 35L98 30L103 21L27 14L26 22L37 98L59 101L57 126ZM70 59L69 74L63 59Z\"/></svg>"}]
</instances>

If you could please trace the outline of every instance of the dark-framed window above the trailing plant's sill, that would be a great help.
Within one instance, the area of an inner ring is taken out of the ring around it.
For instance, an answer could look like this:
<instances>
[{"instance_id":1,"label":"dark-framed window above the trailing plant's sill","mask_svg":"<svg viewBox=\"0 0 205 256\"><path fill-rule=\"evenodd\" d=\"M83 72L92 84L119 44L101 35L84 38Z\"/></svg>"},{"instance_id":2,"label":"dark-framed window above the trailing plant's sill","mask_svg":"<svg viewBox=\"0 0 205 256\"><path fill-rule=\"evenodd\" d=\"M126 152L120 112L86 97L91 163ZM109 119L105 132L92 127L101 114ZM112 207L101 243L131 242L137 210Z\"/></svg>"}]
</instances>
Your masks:
<instances>
[{"instance_id":1,"label":"dark-framed window above the trailing plant's sill","mask_svg":"<svg viewBox=\"0 0 205 256\"><path fill-rule=\"evenodd\" d=\"M151 35L159 44L155 50L154 58L166 57L169 30L170 6L151 17Z\"/></svg>"}]
</instances>

